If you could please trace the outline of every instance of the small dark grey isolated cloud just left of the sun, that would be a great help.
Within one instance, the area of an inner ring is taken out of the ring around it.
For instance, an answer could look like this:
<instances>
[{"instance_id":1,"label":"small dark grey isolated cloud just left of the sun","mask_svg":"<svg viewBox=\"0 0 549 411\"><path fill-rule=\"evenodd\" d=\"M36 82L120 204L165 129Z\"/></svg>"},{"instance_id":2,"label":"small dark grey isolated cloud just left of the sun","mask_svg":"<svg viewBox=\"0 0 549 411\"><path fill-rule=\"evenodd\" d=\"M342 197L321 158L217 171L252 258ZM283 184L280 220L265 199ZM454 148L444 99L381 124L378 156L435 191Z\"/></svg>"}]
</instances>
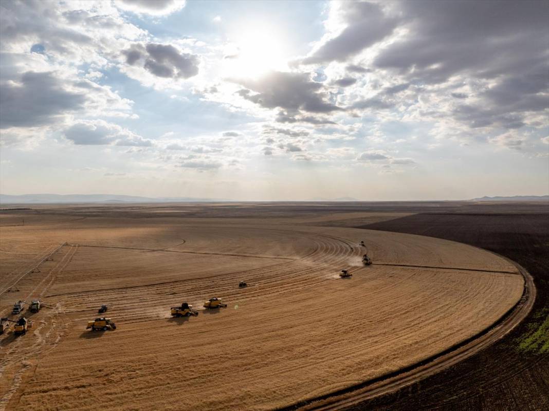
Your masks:
<instances>
[{"instance_id":1,"label":"small dark grey isolated cloud just left of the sun","mask_svg":"<svg viewBox=\"0 0 549 411\"><path fill-rule=\"evenodd\" d=\"M123 50L129 65L142 65L157 77L189 78L198 74L198 55L182 53L170 44L133 44Z\"/></svg>"}]
</instances>

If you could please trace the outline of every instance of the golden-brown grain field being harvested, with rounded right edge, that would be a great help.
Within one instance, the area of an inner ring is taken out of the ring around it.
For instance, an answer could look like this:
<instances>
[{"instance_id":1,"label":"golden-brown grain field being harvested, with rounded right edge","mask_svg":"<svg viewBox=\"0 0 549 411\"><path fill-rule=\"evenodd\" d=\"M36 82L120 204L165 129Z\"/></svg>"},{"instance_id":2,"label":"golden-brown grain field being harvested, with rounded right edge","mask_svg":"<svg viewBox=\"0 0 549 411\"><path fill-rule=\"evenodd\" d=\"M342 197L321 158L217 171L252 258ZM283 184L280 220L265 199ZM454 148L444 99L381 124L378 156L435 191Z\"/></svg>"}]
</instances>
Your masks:
<instances>
[{"instance_id":1,"label":"golden-brown grain field being harvested, with rounded right edge","mask_svg":"<svg viewBox=\"0 0 549 411\"><path fill-rule=\"evenodd\" d=\"M25 225L0 213L2 317L19 299L52 307L1 336L0 409L289 407L436 356L523 295L490 252L325 227L410 211L300 207L41 206ZM228 308L202 309L211 296ZM171 318L182 301L200 315ZM102 303L118 328L86 331Z\"/></svg>"}]
</instances>

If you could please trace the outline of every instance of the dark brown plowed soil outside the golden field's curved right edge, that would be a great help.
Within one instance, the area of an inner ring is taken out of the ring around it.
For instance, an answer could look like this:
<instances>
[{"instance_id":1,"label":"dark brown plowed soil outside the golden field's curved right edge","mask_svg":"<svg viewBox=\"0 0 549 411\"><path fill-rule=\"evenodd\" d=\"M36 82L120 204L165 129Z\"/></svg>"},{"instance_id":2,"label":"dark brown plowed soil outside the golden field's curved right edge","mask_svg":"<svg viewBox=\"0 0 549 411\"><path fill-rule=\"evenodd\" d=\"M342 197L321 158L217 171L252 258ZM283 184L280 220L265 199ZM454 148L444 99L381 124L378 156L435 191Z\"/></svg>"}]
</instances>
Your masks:
<instances>
[{"instance_id":1,"label":"dark brown plowed soil outside the golden field's curved right edge","mask_svg":"<svg viewBox=\"0 0 549 411\"><path fill-rule=\"evenodd\" d=\"M508 205L489 208L484 213L421 213L360 227L428 235L497 252L530 272L537 298L528 318L488 350L349 410L549 410L549 213L513 213Z\"/></svg>"}]
</instances>

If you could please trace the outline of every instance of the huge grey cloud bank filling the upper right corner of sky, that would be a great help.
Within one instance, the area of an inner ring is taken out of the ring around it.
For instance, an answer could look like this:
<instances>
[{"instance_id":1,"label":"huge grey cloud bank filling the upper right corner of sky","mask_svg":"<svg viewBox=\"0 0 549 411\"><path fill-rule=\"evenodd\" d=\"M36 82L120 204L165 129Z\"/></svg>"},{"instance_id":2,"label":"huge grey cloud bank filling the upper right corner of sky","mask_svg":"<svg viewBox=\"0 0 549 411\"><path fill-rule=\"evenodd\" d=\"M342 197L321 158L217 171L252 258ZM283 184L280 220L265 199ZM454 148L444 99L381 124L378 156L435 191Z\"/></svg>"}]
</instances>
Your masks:
<instances>
[{"instance_id":1,"label":"huge grey cloud bank filling the upper right corner of sky","mask_svg":"<svg viewBox=\"0 0 549 411\"><path fill-rule=\"evenodd\" d=\"M430 121L439 136L546 127L548 15L549 3L535 1L333 3L326 35L302 62L328 73L327 63L344 63L328 66L335 79L343 68L368 73L368 88L350 85L339 101Z\"/></svg>"}]
</instances>

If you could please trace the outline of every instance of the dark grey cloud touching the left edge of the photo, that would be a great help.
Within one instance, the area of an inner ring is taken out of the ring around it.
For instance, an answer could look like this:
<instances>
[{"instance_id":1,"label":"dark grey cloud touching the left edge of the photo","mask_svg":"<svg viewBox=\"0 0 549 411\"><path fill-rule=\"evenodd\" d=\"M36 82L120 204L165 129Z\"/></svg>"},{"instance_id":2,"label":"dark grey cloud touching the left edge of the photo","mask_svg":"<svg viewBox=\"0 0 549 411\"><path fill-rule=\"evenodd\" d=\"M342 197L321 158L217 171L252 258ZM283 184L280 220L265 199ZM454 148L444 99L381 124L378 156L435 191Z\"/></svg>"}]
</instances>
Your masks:
<instances>
[{"instance_id":1,"label":"dark grey cloud touching the left edge of the photo","mask_svg":"<svg viewBox=\"0 0 549 411\"><path fill-rule=\"evenodd\" d=\"M68 91L51 72L27 71L19 85L0 84L0 128L49 125L85 102L84 93Z\"/></svg>"}]
</instances>

